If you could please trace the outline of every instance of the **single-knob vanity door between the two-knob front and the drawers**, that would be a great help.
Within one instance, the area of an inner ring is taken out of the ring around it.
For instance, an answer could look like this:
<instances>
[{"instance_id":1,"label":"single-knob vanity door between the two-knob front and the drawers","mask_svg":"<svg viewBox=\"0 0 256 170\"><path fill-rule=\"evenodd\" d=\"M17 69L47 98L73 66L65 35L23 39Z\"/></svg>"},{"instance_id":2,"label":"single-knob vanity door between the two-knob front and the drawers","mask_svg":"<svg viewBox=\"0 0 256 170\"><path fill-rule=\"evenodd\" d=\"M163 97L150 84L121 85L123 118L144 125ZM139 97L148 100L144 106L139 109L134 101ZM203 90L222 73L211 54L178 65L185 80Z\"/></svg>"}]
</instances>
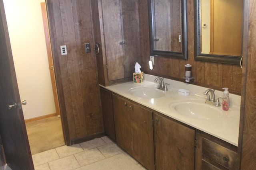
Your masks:
<instances>
[{"instance_id":1,"label":"single-knob vanity door between the two-knob front and the drawers","mask_svg":"<svg viewBox=\"0 0 256 170\"><path fill-rule=\"evenodd\" d=\"M154 114L157 170L193 170L195 131L170 118Z\"/></svg>"}]
</instances>

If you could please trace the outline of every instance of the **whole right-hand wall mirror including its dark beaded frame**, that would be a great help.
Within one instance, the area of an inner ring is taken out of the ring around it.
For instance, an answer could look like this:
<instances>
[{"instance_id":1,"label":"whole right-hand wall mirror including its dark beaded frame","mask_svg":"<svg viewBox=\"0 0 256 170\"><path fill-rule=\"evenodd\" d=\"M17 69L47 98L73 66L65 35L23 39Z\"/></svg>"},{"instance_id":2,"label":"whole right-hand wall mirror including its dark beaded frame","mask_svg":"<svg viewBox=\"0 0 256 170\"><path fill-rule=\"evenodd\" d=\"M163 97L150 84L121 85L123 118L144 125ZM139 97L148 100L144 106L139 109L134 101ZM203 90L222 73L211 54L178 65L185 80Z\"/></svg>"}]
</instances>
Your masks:
<instances>
[{"instance_id":1,"label":"whole right-hand wall mirror including its dark beaded frame","mask_svg":"<svg viewBox=\"0 0 256 170\"><path fill-rule=\"evenodd\" d=\"M242 0L195 0L195 60L240 64Z\"/></svg>"}]
</instances>

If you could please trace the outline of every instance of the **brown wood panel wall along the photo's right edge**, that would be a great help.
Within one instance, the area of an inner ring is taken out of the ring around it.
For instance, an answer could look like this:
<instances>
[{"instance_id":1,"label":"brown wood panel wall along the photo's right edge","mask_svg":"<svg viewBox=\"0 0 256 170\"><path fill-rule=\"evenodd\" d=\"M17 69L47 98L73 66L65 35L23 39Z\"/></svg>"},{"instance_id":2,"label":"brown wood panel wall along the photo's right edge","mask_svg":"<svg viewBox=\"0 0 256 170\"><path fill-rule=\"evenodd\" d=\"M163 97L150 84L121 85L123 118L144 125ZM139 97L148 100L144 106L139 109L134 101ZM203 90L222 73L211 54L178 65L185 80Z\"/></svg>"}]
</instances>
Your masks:
<instances>
[{"instance_id":1,"label":"brown wood panel wall along the photo's right edge","mask_svg":"<svg viewBox=\"0 0 256 170\"><path fill-rule=\"evenodd\" d=\"M239 147L241 151L241 170L256 167L256 1L245 0L246 9L244 39L244 68L242 76L242 99L240 114Z\"/></svg>"}]
</instances>

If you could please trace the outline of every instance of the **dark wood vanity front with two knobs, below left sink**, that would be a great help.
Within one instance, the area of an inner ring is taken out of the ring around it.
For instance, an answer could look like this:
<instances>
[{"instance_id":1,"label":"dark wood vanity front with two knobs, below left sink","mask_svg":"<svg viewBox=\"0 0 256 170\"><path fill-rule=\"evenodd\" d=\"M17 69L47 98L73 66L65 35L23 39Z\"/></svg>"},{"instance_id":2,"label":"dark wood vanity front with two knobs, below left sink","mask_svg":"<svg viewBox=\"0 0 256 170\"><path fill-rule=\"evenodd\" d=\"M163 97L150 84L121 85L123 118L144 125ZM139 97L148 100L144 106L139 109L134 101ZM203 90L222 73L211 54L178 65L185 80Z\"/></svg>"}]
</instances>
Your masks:
<instances>
[{"instance_id":1,"label":"dark wood vanity front with two knobs, below left sink","mask_svg":"<svg viewBox=\"0 0 256 170\"><path fill-rule=\"evenodd\" d=\"M148 170L154 170L152 111L112 94L116 143Z\"/></svg>"}]
</instances>

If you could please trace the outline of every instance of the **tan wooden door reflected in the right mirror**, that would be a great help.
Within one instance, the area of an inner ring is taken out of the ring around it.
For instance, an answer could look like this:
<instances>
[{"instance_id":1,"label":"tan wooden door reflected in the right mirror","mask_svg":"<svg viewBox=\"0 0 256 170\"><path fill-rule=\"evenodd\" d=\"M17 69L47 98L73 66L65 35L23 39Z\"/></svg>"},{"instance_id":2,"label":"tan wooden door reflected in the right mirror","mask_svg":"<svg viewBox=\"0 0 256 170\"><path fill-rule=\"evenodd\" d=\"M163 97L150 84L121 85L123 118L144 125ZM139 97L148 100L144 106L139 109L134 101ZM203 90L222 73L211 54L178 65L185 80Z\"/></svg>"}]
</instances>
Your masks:
<instances>
[{"instance_id":1,"label":"tan wooden door reflected in the right mirror","mask_svg":"<svg viewBox=\"0 0 256 170\"><path fill-rule=\"evenodd\" d=\"M243 1L211 0L211 12L210 53L240 56L242 54Z\"/></svg>"}]
</instances>

